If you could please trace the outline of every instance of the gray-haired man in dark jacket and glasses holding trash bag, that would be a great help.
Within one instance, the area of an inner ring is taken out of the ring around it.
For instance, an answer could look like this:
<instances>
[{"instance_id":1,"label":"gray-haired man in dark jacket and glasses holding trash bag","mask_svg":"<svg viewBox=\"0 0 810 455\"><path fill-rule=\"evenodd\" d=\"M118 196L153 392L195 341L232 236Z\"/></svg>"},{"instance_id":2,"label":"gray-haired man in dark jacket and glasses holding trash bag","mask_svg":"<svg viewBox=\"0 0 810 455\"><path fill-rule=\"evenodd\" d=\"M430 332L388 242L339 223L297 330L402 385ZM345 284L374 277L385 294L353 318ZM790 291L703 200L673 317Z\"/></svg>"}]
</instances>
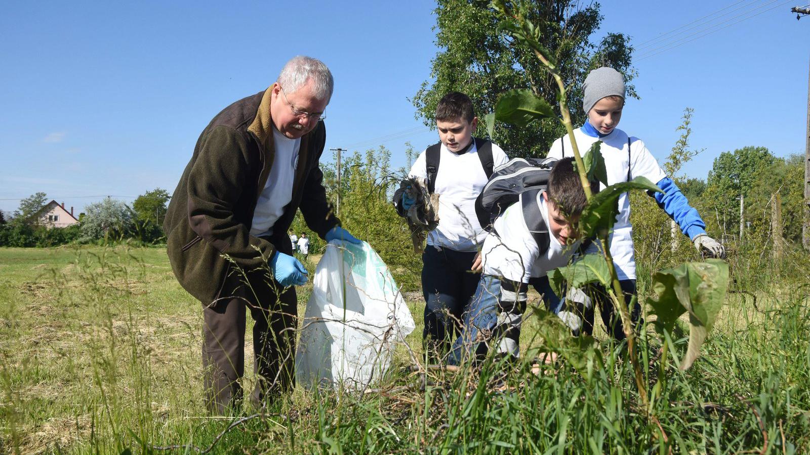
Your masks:
<instances>
[{"instance_id":1,"label":"gray-haired man in dark jacket and glasses holding trash bag","mask_svg":"<svg viewBox=\"0 0 810 455\"><path fill-rule=\"evenodd\" d=\"M245 370L245 316L254 325L252 401L294 384L296 290L307 271L287 236L296 210L318 236L359 243L340 228L322 185L323 111L334 82L311 57L224 108L208 124L177 184L164 222L182 287L203 303L206 405L238 406Z\"/></svg>"}]
</instances>

